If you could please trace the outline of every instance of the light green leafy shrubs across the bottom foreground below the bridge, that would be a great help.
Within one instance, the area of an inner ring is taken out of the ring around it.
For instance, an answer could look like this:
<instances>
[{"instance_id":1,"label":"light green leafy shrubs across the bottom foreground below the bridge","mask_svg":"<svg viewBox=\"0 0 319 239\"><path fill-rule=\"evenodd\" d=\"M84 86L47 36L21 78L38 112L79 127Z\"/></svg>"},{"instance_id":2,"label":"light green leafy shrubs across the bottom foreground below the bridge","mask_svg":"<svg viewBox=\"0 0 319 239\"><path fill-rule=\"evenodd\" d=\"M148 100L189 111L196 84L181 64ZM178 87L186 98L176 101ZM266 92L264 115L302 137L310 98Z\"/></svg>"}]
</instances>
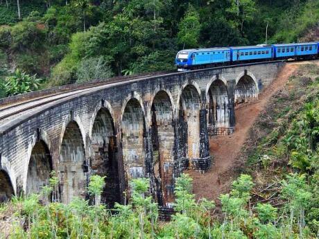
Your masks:
<instances>
[{"instance_id":1,"label":"light green leafy shrubs across the bottom foreground below the bridge","mask_svg":"<svg viewBox=\"0 0 319 239\"><path fill-rule=\"evenodd\" d=\"M175 209L179 210L172 216L171 222L157 222L157 204L149 195L149 179L132 179L130 182L130 200L128 204L116 204L114 211L109 213L103 205L89 205L89 201L74 198L70 204L53 202L41 205L38 195L13 197L12 201L0 206L0 213L7 210L15 211L10 229L10 238L252 238L279 239L282 233L288 238L313 238L313 233L304 224L304 214L292 213L307 209L312 195L305 184L305 177L289 175L282 182L282 197L291 198L286 207L280 210L270 204L258 204L257 215L248 207L248 196L252 187L251 178L241 175L232 186L236 195L221 195L223 223L212 218L215 205L209 200L191 202L191 178L182 174L176 179ZM90 178L89 192L99 195L104 185L104 177L94 175ZM55 172L51 173L49 188L58 185ZM45 189L45 188L44 188ZM48 192L51 191L48 190ZM239 193L241 192L241 193ZM295 193L294 193L295 192ZM238 196L238 197L237 197ZM185 203L189 201L191 203ZM185 206L187 204L187 206ZM184 205L184 206L182 206ZM295 216L298 220L294 220ZM286 218L289 220L287 221ZM292 218L292 220L291 220ZM27 230L17 223L26 220ZM316 224L316 220L312 223ZM301 233L298 232L302 224Z\"/></svg>"}]
</instances>

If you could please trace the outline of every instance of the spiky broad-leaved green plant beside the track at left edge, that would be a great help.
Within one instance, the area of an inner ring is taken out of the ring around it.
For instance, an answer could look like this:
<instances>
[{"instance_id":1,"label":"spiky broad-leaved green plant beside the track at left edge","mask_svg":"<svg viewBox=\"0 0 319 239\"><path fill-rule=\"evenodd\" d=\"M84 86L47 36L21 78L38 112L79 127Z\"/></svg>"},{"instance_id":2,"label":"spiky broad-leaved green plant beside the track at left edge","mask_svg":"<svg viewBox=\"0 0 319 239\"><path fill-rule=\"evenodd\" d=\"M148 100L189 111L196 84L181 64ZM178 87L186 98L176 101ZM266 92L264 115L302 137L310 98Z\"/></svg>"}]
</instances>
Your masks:
<instances>
[{"instance_id":1,"label":"spiky broad-leaved green plant beside the track at left edge","mask_svg":"<svg viewBox=\"0 0 319 239\"><path fill-rule=\"evenodd\" d=\"M42 79L28 75L17 69L13 76L8 76L4 85L7 96L15 96L39 89Z\"/></svg>"}]
</instances>

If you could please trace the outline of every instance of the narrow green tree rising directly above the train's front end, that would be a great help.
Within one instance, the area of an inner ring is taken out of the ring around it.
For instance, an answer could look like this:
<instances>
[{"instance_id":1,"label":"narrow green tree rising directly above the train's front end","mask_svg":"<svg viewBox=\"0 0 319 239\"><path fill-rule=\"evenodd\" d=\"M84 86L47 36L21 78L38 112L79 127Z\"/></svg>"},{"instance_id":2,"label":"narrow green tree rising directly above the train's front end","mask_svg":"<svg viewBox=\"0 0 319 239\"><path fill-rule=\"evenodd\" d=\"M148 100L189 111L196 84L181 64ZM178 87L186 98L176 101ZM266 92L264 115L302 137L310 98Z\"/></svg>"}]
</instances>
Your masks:
<instances>
[{"instance_id":1,"label":"narrow green tree rising directly above the train's front end","mask_svg":"<svg viewBox=\"0 0 319 239\"><path fill-rule=\"evenodd\" d=\"M178 44L182 44L183 49L198 46L200 37L200 17L193 6L189 5L187 12L178 25Z\"/></svg>"}]
</instances>

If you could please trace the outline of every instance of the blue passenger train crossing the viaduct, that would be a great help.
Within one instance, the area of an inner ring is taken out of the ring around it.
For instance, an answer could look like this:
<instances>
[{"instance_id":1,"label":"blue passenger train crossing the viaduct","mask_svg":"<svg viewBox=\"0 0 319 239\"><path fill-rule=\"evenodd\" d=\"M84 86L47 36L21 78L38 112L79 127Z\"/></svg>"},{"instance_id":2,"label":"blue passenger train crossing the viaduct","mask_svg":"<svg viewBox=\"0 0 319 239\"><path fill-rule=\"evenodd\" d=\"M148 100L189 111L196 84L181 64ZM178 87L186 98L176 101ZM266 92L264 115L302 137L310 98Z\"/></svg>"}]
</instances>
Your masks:
<instances>
[{"instance_id":1,"label":"blue passenger train crossing the viaduct","mask_svg":"<svg viewBox=\"0 0 319 239\"><path fill-rule=\"evenodd\" d=\"M175 65L178 71L187 71L249 62L318 58L319 42L260 44L257 46L185 49L176 54Z\"/></svg>"}]
</instances>

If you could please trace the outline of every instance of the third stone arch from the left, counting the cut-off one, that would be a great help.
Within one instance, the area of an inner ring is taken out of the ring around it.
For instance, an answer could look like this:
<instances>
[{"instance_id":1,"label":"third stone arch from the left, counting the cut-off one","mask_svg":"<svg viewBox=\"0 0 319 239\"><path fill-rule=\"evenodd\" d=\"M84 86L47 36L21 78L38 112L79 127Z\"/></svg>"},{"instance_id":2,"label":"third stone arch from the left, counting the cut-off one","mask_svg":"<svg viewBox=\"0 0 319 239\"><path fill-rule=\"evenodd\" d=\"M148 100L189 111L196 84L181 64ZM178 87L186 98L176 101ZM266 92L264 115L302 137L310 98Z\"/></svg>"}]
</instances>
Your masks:
<instances>
[{"instance_id":1,"label":"third stone arch from the left, counting the cut-off one","mask_svg":"<svg viewBox=\"0 0 319 239\"><path fill-rule=\"evenodd\" d=\"M76 121L70 121L65 127L58 169L61 201L69 203L74 197L85 197L87 187L85 144Z\"/></svg>"}]
</instances>

